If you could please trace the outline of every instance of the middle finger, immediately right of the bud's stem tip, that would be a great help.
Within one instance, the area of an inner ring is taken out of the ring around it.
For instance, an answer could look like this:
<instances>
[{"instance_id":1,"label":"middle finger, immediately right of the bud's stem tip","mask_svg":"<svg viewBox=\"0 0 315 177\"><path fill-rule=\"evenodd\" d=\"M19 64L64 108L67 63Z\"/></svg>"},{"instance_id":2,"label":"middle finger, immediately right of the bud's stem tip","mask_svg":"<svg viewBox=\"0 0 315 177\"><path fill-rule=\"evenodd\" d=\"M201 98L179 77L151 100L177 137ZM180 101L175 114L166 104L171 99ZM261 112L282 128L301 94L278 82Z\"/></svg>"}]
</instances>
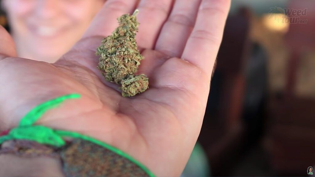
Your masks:
<instances>
[{"instance_id":1,"label":"middle finger, immediately right of the bud's stem tip","mask_svg":"<svg viewBox=\"0 0 315 177\"><path fill-rule=\"evenodd\" d=\"M137 43L140 48L153 49L160 30L169 16L173 0L141 0L137 19L140 23Z\"/></svg>"}]
</instances>

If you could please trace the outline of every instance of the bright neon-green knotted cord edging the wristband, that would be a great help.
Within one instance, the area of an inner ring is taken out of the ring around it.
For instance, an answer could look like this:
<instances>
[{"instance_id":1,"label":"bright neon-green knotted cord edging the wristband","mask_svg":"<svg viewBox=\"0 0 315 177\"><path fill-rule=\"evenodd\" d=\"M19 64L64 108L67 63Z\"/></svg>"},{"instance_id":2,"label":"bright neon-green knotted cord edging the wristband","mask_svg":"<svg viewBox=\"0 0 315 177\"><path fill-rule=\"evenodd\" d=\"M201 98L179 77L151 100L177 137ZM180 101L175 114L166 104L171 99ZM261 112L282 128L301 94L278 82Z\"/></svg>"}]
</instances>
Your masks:
<instances>
[{"instance_id":1,"label":"bright neon-green knotted cord edging the wristband","mask_svg":"<svg viewBox=\"0 0 315 177\"><path fill-rule=\"evenodd\" d=\"M35 122L40 119L40 117L49 109L59 106L62 102L67 99L78 99L81 95L79 94L69 94L61 96L47 102L44 102L37 107L33 108L29 113L24 116L18 127L11 129L7 135L0 136L0 145L4 141L9 140L28 140L35 141L39 144L49 145L53 147L63 147L66 145L64 137L72 137L75 139L81 139L84 141L89 141L91 143L97 144L107 150L116 153L117 155L128 159L130 162L136 164L140 169L142 169L148 176L155 176L149 169L147 169L143 164L129 156L127 153L108 145L102 141L96 140L92 137L81 135L76 132L65 131L65 130L53 130L49 127L43 125L34 125Z\"/></svg>"}]
</instances>

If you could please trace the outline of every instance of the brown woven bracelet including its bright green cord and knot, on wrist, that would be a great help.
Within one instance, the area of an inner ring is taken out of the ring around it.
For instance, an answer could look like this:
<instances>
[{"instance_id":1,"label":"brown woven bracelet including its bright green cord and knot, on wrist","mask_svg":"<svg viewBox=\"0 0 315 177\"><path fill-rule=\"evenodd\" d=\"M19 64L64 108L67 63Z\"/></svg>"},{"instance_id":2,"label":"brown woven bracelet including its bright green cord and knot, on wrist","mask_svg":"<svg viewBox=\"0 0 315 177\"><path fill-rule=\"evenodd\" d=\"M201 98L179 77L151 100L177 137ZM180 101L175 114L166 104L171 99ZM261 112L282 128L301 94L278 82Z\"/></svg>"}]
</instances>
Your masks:
<instances>
[{"instance_id":1,"label":"brown woven bracelet including its bright green cord and knot, on wrist","mask_svg":"<svg viewBox=\"0 0 315 177\"><path fill-rule=\"evenodd\" d=\"M49 109L67 99L80 97L79 94L69 94L33 108L18 127L0 134L0 155L58 158L65 176L154 176L143 164L102 141L76 132L34 125ZM65 140L69 138L70 141Z\"/></svg>"}]
</instances>

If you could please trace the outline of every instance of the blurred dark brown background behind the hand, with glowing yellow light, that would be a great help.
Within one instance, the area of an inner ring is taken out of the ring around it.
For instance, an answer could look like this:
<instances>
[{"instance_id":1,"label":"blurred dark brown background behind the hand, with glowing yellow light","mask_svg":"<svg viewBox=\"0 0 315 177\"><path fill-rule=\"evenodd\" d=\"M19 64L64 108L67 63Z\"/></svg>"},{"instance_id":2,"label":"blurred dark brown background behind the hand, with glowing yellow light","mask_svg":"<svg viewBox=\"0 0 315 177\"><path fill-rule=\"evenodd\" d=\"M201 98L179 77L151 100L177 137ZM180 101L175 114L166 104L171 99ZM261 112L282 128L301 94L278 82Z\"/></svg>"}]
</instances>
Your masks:
<instances>
[{"instance_id":1,"label":"blurred dark brown background behind the hand, with glowing yellow light","mask_svg":"<svg viewBox=\"0 0 315 177\"><path fill-rule=\"evenodd\" d=\"M307 176L315 167L314 31L315 1L232 0L182 176Z\"/></svg>"}]
</instances>

